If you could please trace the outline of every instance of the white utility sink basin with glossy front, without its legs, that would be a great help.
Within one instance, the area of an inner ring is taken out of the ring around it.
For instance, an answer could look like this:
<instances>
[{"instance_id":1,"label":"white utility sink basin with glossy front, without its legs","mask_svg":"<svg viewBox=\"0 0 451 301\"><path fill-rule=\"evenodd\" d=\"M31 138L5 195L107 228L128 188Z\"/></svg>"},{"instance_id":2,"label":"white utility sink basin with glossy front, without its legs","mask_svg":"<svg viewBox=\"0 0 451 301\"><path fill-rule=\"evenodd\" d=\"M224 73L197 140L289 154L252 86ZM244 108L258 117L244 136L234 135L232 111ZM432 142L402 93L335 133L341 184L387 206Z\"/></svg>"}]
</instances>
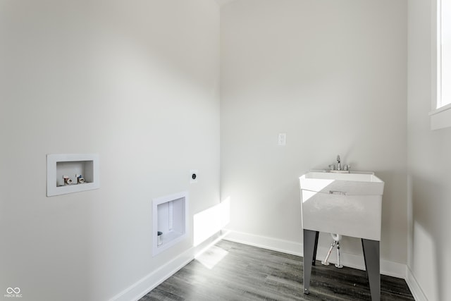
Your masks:
<instances>
[{"instance_id":1,"label":"white utility sink basin with glossy front, without its legs","mask_svg":"<svg viewBox=\"0 0 451 301\"><path fill-rule=\"evenodd\" d=\"M373 173L311 171L299 182L302 228L381 240L384 183Z\"/></svg>"}]
</instances>

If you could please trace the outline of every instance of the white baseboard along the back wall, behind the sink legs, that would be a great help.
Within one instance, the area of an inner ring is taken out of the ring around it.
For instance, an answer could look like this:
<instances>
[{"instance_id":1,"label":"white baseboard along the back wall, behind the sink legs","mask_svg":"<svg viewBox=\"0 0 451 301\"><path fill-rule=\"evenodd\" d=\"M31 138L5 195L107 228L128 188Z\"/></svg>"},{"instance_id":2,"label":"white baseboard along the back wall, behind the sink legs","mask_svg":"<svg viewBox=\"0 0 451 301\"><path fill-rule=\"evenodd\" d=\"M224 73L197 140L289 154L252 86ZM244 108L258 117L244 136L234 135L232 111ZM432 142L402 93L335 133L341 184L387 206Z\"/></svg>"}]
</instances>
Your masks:
<instances>
[{"instance_id":1,"label":"white baseboard along the back wall, behind the sink legs","mask_svg":"<svg viewBox=\"0 0 451 301\"><path fill-rule=\"evenodd\" d=\"M228 231L228 235L226 235L224 239L233 242L244 243L245 245L262 247L268 250L303 256L303 246L302 243L299 242L280 240L277 238L269 238L266 236L253 235L236 231ZM328 248L318 247L316 258L325 258L327 252ZM345 266L349 266L354 269L365 270L365 262L362 255L341 252L340 261ZM333 258L333 256L331 256L329 262L335 264L336 260L335 258ZM399 264L397 262L388 262L386 260L381 260L381 274L405 279L406 265Z\"/></svg>"}]
</instances>

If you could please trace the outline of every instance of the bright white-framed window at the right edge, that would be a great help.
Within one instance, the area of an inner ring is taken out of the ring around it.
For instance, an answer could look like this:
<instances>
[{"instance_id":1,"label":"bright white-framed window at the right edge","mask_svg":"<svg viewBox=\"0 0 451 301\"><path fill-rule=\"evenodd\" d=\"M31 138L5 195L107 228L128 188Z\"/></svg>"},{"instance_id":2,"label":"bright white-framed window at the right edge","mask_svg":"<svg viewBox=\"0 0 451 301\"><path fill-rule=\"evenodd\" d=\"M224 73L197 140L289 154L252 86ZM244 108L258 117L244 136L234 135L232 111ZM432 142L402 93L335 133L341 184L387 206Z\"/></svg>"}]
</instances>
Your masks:
<instances>
[{"instance_id":1,"label":"bright white-framed window at the right edge","mask_svg":"<svg viewBox=\"0 0 451 301\"><path fill-rule=\"evenodd\" d=\"M437 0L433 18L431 129L451 127L451 0ZM434 20L435 19L435 20Z\"/></svg>"}]
</instances>

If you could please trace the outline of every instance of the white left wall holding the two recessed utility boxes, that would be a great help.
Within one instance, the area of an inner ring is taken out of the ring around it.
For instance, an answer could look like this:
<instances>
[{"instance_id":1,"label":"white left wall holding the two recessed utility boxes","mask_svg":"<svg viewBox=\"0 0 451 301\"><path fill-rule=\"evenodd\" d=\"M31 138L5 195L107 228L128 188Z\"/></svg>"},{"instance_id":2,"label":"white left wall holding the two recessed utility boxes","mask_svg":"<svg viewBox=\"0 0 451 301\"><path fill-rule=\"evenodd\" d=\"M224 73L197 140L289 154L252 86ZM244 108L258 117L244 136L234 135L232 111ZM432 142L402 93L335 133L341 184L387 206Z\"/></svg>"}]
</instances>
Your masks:
<instances>
[{"instance_id":1,"label":"white left wall holding the two recessed utility boxes","mask_svg":"<svg viewBox=\"0 0 451 301\"><path fill-rule=\"evenodd\" d=\"M219 202L211 0L0 2L0 293L107 300L192 247ZM100 189L46 197L46 154L97 153ZM189 184L189 170L199 170ZM188 238L152 258L152 198Z\"/></svg>"}]
</instances>

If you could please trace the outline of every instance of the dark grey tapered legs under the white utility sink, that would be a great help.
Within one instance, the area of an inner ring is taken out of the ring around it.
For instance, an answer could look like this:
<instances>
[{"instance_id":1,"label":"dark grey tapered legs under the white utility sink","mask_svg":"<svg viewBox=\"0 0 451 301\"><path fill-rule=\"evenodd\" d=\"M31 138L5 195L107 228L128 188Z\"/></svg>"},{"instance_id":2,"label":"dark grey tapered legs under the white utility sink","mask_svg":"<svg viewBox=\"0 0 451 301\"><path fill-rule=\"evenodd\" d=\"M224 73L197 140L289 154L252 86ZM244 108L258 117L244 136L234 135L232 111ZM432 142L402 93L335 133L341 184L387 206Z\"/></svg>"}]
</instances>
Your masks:
<instances>
[{"instance_id":1,"label":"dark grey tapered legs under the white utility sink","mask_svg":"<svg viewBox=\"0 0 451 301\"><path fill-rule=\"evenodd\" d=\"M304 294L310 293L311 266L315 265L319 231L304 229ZM381 300L380 242L362 238L366 274L369 280L371 300Z\"/></svg>"}]
</instances>

